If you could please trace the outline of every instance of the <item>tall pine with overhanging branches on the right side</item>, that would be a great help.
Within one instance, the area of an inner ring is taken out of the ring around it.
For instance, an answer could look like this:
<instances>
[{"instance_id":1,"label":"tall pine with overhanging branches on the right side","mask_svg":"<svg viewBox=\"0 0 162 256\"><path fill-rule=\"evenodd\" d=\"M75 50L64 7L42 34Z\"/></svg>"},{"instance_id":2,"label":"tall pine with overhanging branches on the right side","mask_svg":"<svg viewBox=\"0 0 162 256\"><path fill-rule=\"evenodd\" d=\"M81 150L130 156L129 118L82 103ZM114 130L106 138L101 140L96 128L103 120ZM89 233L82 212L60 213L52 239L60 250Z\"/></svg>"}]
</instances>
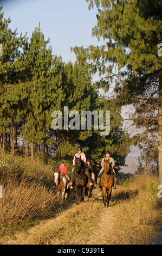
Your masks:
<instances>
[{"instance_id":1,"label":"tall pine with overhanging branches on the right side","mask_svg":"<svg viewBox=\"0 0 162 256\"><path fill-rule=\"evenodd\" d=\"M93 36L105 45L75 47L77 58L99 70L101 86L115 84L120 105L132 103L135 123L155 137L158 132L159 182L162 183L161 1L87 0L98 7ZM84 60L85 61L85 60ZM153 138L151 138L153 139ZM155 141L155 139L154 139Z\"/></svg>"}]
</instances>

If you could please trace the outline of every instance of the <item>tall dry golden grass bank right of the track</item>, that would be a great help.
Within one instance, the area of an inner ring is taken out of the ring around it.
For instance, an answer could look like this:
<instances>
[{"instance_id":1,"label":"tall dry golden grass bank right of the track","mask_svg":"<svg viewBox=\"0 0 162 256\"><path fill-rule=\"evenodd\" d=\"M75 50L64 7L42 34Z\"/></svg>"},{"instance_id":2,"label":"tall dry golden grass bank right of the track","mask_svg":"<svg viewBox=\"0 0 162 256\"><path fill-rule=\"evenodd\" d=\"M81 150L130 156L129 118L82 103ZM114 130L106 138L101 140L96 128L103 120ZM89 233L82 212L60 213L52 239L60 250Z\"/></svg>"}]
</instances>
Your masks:
<instances>
[{"instance_id":1,"label":"tall dry golden grass bank right of the track","mask_svg":"<svg viewBox=\"0 0 162 256\"><path fill-rule=\"evenodd\" d=\"M115 220L115 244L150 244L162 230L162 199L158 198L158 178L143 174L127 186L119 186Z\"/></svg>"}]
</instances>

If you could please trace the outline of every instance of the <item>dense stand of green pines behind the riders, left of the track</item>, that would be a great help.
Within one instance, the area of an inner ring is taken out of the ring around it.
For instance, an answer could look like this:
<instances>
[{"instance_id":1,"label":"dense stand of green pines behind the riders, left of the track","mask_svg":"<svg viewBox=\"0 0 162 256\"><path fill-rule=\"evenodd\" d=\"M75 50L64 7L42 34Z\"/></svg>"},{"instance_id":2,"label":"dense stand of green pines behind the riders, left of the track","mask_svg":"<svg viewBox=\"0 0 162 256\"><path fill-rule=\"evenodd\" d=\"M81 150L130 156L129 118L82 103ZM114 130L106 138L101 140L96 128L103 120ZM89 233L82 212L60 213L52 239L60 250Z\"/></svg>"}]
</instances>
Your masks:
<instances>
[{"instance_id":1,"label":"dense stand of green pines behind the riders, left of the track","mask_svg":"<svg viewBox=\"0 0 162 256\"><path fill-rule=\"evenodd\" d=\"M34 29L30 40L9 28L0 9L0 153L41 155L56 160L73 160L80 145L87 157L100 163L105 150L111 151L116 170L125 165L131 141L122 129L121 106L99 94L100 83L93 84L86 59L63 63L54 56L41 32ZM111 112L111 132L100 130L53 130L55 110ZM119 121L120 120L120 121Z\"/></svg>"}]
</instances>

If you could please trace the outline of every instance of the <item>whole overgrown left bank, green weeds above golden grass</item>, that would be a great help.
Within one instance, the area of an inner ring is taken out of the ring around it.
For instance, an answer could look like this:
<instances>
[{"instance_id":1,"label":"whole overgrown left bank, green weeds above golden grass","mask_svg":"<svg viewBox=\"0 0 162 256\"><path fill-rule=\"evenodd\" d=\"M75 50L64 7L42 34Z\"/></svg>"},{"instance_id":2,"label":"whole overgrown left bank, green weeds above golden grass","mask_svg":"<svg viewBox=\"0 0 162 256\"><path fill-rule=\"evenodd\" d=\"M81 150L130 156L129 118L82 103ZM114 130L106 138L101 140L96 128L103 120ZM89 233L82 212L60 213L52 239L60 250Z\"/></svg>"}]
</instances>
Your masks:
<instances>
[{"instance_id":1,"label":"whole overgrown left bank, green weeds above golden grass","mask_svg":"<svg viewBox=\"0 0 162 256\"><path fill-rule=\"evenodd\" d=\"M53 167L43 160L5 155L0 166L0 235L52 216L58 203L53 182Z\"/></svg>"}]
</instances>

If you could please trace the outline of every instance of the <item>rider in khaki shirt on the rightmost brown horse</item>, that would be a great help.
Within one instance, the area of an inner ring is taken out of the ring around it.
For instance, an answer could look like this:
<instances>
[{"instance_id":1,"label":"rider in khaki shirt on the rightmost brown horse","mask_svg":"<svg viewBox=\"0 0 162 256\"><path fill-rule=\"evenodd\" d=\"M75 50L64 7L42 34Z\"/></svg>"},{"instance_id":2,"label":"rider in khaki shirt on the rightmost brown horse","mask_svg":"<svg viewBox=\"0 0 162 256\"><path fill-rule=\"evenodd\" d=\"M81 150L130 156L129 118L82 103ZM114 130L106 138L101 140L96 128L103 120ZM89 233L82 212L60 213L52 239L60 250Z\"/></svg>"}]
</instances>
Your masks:
<instances>
[{"instance_id":1,"label":"rider in khaki shirt on the rightmost brown horse","mask_svg":"<svg viewBox=\"0 0 162 256\"><path fill-rule=\"evenodd\" d=\"M112 167L112 171L113 171L113 178L114 178L114 188L116 188L118 185L116 184L116 181L117 181L117 178L116 178L116 174L115 174L115 171L114 171L114 166L115 166L115 163L114 163L114 160L113 160L113 158L112 157L110 157L110 151L109 150L106 150L105 151L105 155L106 155L106 157L103 157L102 158L102 161L101 161L101 170L100 170L100 173L99 173L99 175L98 175L98 180L97 180L97 187L99 186L99 184L100 184L100 180L101 180L101 176L102 176L102 172L103 172L103 170L104 170L104 159L105 160L108 160L109 159L109 163L111 164L111 167Z\"/></svg>"}]
</instances>

